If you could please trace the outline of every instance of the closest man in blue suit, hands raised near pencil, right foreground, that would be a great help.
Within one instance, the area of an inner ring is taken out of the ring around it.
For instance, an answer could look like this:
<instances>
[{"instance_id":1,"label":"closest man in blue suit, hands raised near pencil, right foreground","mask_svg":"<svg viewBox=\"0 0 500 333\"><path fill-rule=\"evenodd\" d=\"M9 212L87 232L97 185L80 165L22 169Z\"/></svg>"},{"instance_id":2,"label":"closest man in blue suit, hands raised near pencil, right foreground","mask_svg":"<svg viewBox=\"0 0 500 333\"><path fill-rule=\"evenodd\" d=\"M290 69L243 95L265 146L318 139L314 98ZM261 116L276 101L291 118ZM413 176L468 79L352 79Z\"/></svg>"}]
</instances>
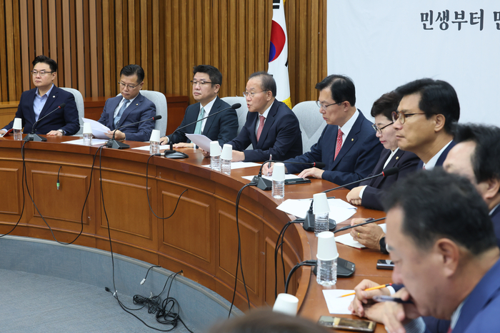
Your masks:
<instances>
[{"instance_id":1,"label":"closest man in blue suit, hands raised near pencil, right foreground","mask_svg":"<svg viewBox=\"0 0 500 333\"><path fill-rule=\"evenodd\" d=\"M392 280L404 284L393 296L411 303L386 302L371 317L365 283L355 288L351 309L388 332L436 332L446 320L448 332L498 332L500 250L474 185L441 168L420 171L391 188L384 208ZM431 327L420 316L439 319Z\"/></svg>"}]
</instances>

